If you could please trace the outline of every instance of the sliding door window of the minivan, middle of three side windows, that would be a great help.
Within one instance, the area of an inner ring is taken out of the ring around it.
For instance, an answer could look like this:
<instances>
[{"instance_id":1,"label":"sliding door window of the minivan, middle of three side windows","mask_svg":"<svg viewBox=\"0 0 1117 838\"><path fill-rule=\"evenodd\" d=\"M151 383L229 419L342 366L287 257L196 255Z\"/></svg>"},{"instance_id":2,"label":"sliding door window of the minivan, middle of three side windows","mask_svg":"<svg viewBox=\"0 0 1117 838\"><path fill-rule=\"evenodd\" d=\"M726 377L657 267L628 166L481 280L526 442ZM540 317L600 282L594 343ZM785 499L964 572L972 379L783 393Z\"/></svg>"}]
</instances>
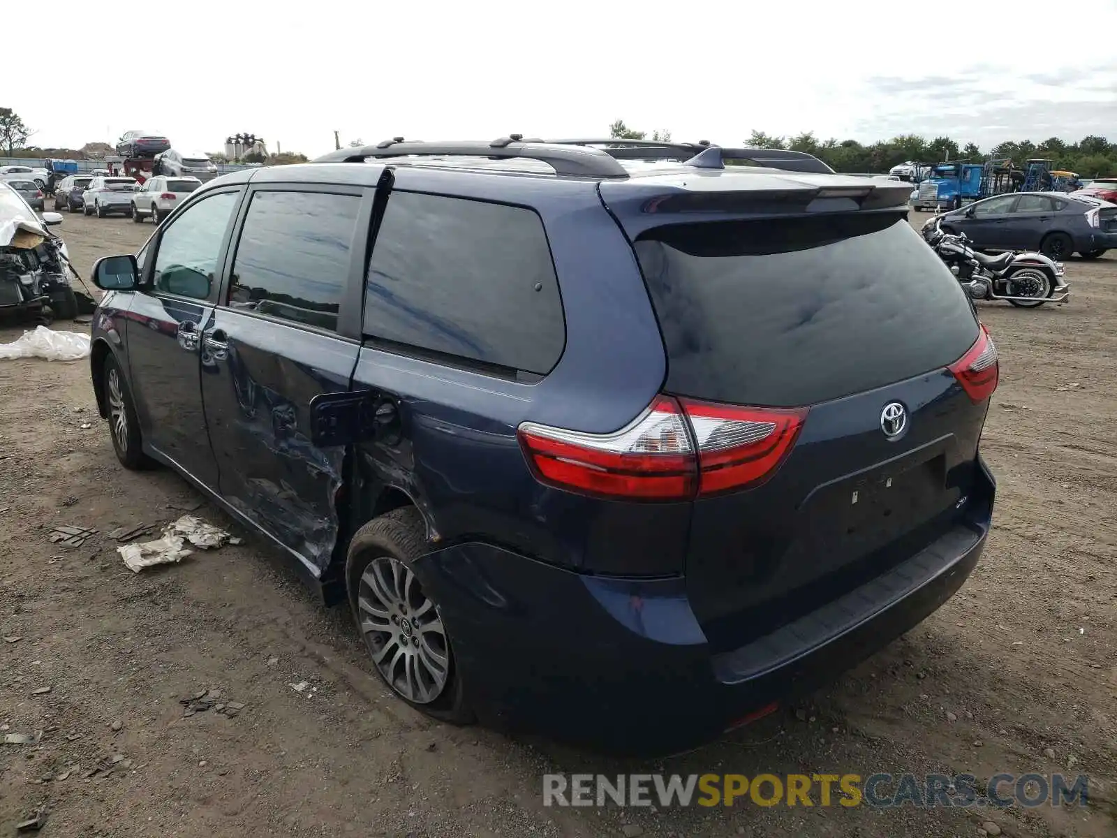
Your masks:
<instances>
[{"instance_id":1,"label":"sliding door window of the minivan, middle of three side windows","mask_svg":"<svg viewBox=\"0 0 1117 838\"><path fill-rule=\"evenodd\" d=\"M360 206L349 194L256 192L232 263L229 307L337 331Z\"/></svg>"}]
</instances>

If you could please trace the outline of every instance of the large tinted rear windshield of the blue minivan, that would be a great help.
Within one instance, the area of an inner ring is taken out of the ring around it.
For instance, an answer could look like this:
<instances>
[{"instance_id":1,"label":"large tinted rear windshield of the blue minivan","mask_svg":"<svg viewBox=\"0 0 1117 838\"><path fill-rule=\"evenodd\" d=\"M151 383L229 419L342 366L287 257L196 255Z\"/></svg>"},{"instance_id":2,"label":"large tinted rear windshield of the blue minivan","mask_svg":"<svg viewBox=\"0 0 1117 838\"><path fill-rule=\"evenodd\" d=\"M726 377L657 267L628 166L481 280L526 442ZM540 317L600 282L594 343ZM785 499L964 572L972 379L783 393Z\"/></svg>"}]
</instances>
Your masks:
<instances>
[{"instance_id":1,"label":"large tinted rear windshield of the blue minivan","mask_svg":"<svg viewBox=\"0 0 1117 838\"><path fill-rule=\"evenodd\" d=\"M957 280L894 213L671 225L636 253L679 394L811 404L945 366L977 339Z\"/></svg>"}]
</instances>

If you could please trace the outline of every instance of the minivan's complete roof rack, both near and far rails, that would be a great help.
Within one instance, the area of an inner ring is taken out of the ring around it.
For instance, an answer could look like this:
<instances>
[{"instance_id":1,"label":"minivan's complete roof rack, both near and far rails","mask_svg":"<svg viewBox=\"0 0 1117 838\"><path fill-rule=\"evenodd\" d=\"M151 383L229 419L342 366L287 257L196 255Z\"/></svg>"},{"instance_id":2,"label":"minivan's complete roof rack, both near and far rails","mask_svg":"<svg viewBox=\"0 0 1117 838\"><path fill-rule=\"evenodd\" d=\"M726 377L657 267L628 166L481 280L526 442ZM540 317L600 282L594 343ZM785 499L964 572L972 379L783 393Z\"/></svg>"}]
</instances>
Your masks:
<instances>
[{"instance_id":1,"label":"minivan's complete roof rack, both near and far rails","mask_svg":"<svg viewBox=\"0 0 1117 838\"><path fill-rule=\"evenodd\" d=\"M604 147L596 147L604 146ZM718 154L704 152L718 150ZM701 155L701 161L695 160ZM833 174L833 169L815 156L784 149L726 149L701 140L697 143L669 143L658 140L524 140L523 134L509 134L491 142L455 141L424 143L405 141L402 136L384 140L360 149L341 149L315 160L315 163L363 163L370 158L404 156L470 156L490 160L522 158L538 160L555 170L555 174L593 178L627 178L629 172L618 160L677 160L703 169L720 168L720 160L747 160L791 172Z\"/></svg>"}]
</instances>

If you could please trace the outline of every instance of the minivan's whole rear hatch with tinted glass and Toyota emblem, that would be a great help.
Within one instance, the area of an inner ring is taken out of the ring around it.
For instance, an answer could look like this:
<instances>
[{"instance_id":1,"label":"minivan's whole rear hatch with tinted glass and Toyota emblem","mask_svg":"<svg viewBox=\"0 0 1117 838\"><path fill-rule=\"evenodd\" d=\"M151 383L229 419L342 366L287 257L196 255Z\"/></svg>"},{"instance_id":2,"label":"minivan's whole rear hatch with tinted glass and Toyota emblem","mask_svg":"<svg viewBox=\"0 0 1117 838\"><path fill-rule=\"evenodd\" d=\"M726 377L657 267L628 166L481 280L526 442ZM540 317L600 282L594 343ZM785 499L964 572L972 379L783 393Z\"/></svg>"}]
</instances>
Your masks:
<instances>
[{"instance_id":1,"label":"minivan's whole rear hatch with tinted glass and Toyota emblem","mask_svg":"<svg viewBox=\"0 0 1117 838\"><path fill-rule=\"evenodd\" d=\"M901 212L618 218L659 320L665 392L742 420L725 446L772 431L746 487L707 492L704 473L693 506L687 590L715 650L818 609L954 525L995 350ZM985 377L971 391L948 368L975 351ZM704 421L691 413L700 464Z\"/></svg>"}]
</instances>

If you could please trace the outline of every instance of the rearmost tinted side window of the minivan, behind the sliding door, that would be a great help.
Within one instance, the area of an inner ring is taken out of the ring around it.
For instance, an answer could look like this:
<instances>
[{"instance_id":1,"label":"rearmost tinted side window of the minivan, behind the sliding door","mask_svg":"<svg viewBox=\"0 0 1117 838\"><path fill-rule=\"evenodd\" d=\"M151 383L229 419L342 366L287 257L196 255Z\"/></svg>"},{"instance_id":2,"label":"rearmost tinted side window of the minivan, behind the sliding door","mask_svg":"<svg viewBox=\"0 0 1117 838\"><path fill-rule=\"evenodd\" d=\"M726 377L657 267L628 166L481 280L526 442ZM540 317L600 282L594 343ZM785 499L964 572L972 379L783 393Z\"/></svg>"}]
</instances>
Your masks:
<instances>
[{"instance_id":1,"label":"rearmost tinted side window of the minivan, behind the sliding door","mask_svg":"<svg viewBox=\"0 0 1117 838\"><path fill-rule=\"evenodd\" d=\"M364 332L550 372L565 324L543 222L522 207L392 192L369 261Z\"/></svg>"}]
</instances>

